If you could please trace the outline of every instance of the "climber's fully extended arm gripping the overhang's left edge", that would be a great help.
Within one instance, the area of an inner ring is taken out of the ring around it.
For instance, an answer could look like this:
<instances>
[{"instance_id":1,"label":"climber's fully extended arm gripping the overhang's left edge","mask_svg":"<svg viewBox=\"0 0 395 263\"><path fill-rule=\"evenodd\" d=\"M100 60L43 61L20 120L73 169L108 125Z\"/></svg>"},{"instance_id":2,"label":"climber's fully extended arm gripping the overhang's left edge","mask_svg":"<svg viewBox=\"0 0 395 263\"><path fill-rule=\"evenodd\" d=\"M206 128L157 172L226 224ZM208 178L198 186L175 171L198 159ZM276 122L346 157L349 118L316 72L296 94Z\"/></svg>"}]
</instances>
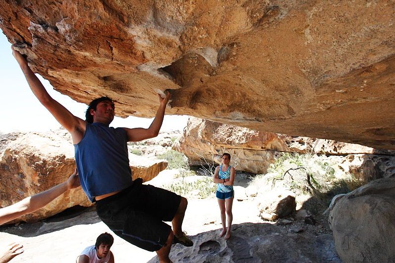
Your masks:
<instances>
[{"instance_id":1,"label":"climber's fully extended arm gripping the overhang's left edge","mask_svg":"<svg viewBox=\"0 0 395 263\"><path fill-rule=\"evenodd\" d=\"M26 80L29 83L30 89L37 97L40 103L56 118L56 120L73 136L73 143L77 144L82 139L85 132L86 122L79 117L74 116L60 103L55 101L45 90L39 78L30 69L27 60L16 51L13 47L12 55L15 57Z\"/></svg>"}]
</instances>

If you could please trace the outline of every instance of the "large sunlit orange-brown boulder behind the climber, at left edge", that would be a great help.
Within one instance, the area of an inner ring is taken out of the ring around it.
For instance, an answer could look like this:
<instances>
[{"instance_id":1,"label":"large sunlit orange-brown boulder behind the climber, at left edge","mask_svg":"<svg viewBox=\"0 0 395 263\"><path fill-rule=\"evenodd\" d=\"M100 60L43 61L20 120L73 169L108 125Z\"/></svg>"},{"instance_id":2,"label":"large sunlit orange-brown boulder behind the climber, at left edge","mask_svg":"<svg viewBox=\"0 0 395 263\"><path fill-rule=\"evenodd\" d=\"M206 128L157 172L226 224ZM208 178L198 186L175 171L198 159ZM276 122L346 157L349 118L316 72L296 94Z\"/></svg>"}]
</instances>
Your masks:
<instances>
[{"instance_id":1,"label":"large sunlit orange-brown boulder behind the climber, at left edge","mask_svg":"<svg viewBox=\"0 0 395 263\"><path fill-rule=\"evenodd\" d=\"M64 182L75 169L71 136L63 129L48 133L0 135L0 207ZM165 169L167 162L130 156L133 178L149 181ZM36 222L69 207L91 206L81 188L67 191L40 210L13 222Z\"/></svg>"}]
</instances>

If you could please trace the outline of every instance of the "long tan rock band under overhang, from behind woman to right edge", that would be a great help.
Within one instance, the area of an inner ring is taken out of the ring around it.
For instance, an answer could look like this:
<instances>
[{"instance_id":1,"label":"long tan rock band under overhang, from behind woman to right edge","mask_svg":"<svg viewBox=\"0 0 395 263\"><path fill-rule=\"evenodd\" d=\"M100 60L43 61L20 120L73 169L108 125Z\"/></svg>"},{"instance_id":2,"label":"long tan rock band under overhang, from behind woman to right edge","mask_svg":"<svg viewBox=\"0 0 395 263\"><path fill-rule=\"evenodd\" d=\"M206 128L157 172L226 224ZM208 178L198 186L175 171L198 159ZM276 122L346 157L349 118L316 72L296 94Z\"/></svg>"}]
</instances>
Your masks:
<instances>
[{"instance_id":1,"label":"long tan rock band under overhang, from behind woman to right edge","mask_svg":"<svg viewBox=\"0 0 395 263\"><path fill-rule=\"evenodd\" d=\"M325 154L339 173L371 181L395 172L395 150L378 150L331 140L267 133L191 117L175 150L184 152L192 164L221 162L229 152L236 169L266 173L282 152ZM205 159L205 161L203 160ZM202 161L203 160L203 161Z\"/></svg>"}]
</instances>

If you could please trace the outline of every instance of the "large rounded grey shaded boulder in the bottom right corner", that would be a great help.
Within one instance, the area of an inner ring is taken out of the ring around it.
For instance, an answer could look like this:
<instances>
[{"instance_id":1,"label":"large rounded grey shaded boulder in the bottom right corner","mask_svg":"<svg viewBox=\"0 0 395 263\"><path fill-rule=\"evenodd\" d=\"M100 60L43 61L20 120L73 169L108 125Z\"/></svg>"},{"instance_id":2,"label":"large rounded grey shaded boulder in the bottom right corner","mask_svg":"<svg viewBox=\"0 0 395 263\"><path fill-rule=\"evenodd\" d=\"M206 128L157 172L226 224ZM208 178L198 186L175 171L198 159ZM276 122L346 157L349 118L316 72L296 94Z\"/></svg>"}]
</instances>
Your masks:
<instances>
[{"instance_id":1,"label":"large rounded grey shaded boulder in the bottom right corner","mask_svg":"<svg viewBox=\"0 0 395 263\"><path fill-rule=\"evenodd\" d=\"M342 197L329 214L343 262L395 261L395 178L370 182Z\"/></svg>"}]
</instances>

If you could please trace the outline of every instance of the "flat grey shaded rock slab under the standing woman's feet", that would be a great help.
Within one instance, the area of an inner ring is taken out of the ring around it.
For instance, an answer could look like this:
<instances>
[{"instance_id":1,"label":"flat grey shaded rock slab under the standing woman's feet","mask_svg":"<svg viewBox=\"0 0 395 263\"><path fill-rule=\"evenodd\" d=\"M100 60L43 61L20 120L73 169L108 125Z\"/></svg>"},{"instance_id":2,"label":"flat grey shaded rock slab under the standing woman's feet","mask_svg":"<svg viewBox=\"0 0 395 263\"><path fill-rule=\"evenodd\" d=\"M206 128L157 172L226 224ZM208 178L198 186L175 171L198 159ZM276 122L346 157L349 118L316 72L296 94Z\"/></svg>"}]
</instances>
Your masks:
<instances>
[{"instance_id":1,"label":"flat grey shaded rock slab under the standing woman's feet","mask_svg":"<svg viewBox=\"0 0 395 263\"><path fill-rule=\"evenodd\" d=\"M170 251L174 263L340 263L328 234L318 239L313 234L291 233L276 225L243 223L233 225L232 237L225 241L218 230L192 236L194 246L175 245ZM155 257L149 263L156 263Z\"/></svg>"}]
</instances>

